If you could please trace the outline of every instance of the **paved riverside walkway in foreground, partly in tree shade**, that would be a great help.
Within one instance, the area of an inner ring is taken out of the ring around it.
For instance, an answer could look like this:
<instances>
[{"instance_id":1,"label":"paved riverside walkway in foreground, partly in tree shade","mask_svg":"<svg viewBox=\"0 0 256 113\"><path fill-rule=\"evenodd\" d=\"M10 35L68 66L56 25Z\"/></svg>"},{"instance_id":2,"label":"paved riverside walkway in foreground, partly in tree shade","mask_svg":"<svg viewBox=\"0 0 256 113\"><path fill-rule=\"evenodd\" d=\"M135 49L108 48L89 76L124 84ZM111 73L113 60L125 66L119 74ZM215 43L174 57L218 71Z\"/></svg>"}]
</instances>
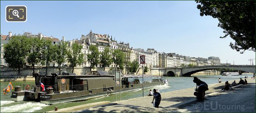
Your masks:
<instances>
[{"instance_id":1,"label":"paved riverside walkway in foreground, partly in tree shade","mask_svg":"<svg viewBox=\"0 0 256 113\"><path fill-rule=\"evenodd\" d=\"M255 106L255 80L247 79L248 83L251 85L244 85L235 88L235 90L218 92L223 87L224 83L217 83L209 85L209 90L206 92L205 103L196 102L195 96L193 95L194 88L187 88L183 90L171 91L161 93L162 101L159 108L154 108L152 105L152 96L145 96L140 98L133 98L118 102L112 102L108 105L92 107L90 109L84 109L77 112L234 112L233 110L208 110L207 107L200 109L200 105L209 105L217 101L220 105L231 105L231 103L236 103L236 105L241 105L241 103L246 103L246 106ZM231 81L229 81L231 82ZM254 84L254 85L252 85ZM235 97L235 98L233 98ZM248 97L248 98L244 98ZM242 99L244 101L239 101ZM225 101L223 101L225 100ZM254 103L252 103L254 101ZM240 103L241 102L241 103ZM251 104L252 103L252 104ZM215 103L216 104L216 103ZM249 104L249 105L248 105ZM197 107L195 107L197 106ZM242 105L241 105L242 106ZM222 106L221 106L222 107ZM244 106L245 107L245 106ZM209 108L210 109L210 108ZM255 109L253 109L255 112ZM253 111L252 110L252 111ZM251 111L251 110L244 110ZM236 112L243 112L236 109Z\"/></svg>"}]
</instances>

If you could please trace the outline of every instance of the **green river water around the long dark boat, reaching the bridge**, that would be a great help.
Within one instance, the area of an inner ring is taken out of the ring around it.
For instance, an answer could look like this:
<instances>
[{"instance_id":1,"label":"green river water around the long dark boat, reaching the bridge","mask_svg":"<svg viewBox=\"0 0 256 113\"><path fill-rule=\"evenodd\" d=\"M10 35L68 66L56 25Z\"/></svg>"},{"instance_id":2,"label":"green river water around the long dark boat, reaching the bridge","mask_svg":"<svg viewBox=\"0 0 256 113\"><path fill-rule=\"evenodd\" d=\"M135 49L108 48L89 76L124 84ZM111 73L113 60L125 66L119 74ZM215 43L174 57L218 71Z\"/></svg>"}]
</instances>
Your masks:
<instances>
[{"instance_id":1,"label":"green river water around the long dark boat, reaching the bridge","mask_svg":"<svg viewBox=\"0 0 256 113\"><path fill-rule=\"evenodd\" d=\"M242 78L245 76L252 77L252 74L245 74L242 75ZM229 80L236 80L240 79L240 76L221 76L221 75L198 75L196 76L200 80L205 81L207 84L214 84L218 82L218 78L221 78L222 82L229 81ZM147 95L150 89L158 89L161 92L169 92L175 90L181 90L185 88L196 87L196 84L193 83L193 77L165 77L169 84L168 85L161 85L155 86L151 88L144 89L144 95ZM238 82L238 81L237 81ZM34 81L12 81L13 87L20 84L34 84ZM1 81L1 91L9 84L9 82ZM58 109L83 105L86 103L92 102L100 102L100 101L115 101L116 96L109 95L100 98L94 98L87 101L82 102L65 102L65 103L57 103L53 105L45 105L40 102L33 102L33 101L20 101L14 102L10 99L11 92L9 94L3 95L1 92L1 112L47 112L50 110L54 110L54 107L58 107ZM135 90L130 92L121 93L121 99L130 99L142 96L142 90ZM119 101L119 94L117 94L117 100Z\"/></svg>"}]
</instances>

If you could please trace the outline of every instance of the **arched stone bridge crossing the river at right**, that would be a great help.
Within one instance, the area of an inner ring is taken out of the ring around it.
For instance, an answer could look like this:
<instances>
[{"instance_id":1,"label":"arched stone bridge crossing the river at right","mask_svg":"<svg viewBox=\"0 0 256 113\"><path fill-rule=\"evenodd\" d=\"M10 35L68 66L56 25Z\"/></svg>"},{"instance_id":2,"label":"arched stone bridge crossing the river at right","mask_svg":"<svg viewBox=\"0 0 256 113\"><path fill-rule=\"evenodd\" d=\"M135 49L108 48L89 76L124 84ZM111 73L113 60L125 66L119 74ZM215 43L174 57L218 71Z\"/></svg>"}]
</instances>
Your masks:
<instances>
[{"instance_id":1,"label":"arched stone bridge crossing the river at right","mask_svg":"<svg viewBox=\"0 0 256 113\"><path fill-rule=\"evenodd\" d=\"M194 73L213 69L234 69L255 73L255 65L210 65L185 68L165 68L165 76L191 76Z\"/></svg>"}]
</instances>

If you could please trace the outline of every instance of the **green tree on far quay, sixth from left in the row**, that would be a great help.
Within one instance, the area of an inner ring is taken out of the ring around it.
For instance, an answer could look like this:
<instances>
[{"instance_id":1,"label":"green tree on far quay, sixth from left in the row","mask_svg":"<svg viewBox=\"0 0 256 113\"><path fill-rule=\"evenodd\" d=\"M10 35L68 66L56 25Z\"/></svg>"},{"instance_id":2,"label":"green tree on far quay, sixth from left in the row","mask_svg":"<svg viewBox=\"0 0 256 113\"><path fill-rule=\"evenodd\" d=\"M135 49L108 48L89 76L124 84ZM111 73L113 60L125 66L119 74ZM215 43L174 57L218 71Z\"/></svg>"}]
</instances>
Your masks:
<instances>
[{"instance_id":1,"label":"green tree on far quay, sixth from left in the row","mask_svg":"<svg viewBox=\"0 0 256 113\"><path fill-rule=\"evenodd\" d=\"M99 63L99 49L97 45L89 46L89 54L87 54L87 60L90 62L90 71L94 69Z\"/></svg>"}]
</instances>

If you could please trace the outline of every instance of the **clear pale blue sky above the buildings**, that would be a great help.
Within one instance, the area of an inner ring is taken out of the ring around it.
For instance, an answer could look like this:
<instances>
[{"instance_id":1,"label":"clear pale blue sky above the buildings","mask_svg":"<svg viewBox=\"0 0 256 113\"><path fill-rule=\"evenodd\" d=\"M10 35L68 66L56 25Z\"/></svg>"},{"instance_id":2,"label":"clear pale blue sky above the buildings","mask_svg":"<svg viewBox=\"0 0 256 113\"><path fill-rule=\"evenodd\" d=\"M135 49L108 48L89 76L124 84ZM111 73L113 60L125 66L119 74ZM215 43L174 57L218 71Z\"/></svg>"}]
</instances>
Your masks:
<instances>
[{"instance_id":1,"label":"clear pale blue sky above the buildings","mask_svg":"<svg viewBox=\"0 0 256 113\"><path fill-rule=\"evenodd\" d=\"M6 22L5 8L27 6L27 22ZM250 65L255 52L232 50L218 19L200 16L195 1L1 1L0 33L41 32L65 40L109 34L133 48L154 48L190 57L220 57L221 63ZM255 40L252 40L255 41ZM256 60L253 60L255 65Z\"/></svg>"}]
</instances>

